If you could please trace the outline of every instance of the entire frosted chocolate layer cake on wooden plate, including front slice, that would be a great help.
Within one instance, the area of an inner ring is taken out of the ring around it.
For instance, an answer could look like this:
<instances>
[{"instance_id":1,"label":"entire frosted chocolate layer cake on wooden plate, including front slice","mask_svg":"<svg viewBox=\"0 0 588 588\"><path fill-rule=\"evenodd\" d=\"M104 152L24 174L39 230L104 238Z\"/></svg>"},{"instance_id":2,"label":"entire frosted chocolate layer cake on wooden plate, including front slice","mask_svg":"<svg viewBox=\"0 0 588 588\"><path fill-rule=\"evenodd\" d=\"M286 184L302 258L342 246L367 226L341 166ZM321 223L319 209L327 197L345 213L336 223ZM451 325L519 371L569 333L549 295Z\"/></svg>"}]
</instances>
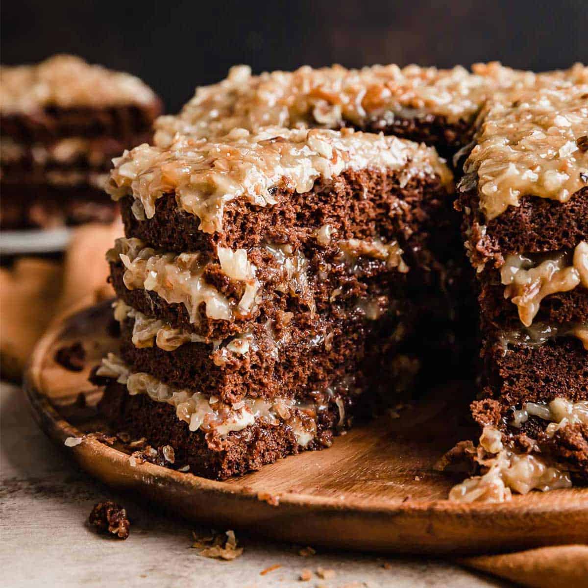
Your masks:
<instances>
[{"instance_id":1,"label":"entire frosted chocolate layer cake on wooden plate, including front slice","mask_svg":"<svg viewBox=\"0 0 588 588\"><path fill-rule=\"evenodd\" d=\"M587 71L240 66L199 88L112 173L103 409L226 477L329 445L419 364L463 377L481 319L484 476L452 497L587 476Z\"/></svg>"}]
</instances>

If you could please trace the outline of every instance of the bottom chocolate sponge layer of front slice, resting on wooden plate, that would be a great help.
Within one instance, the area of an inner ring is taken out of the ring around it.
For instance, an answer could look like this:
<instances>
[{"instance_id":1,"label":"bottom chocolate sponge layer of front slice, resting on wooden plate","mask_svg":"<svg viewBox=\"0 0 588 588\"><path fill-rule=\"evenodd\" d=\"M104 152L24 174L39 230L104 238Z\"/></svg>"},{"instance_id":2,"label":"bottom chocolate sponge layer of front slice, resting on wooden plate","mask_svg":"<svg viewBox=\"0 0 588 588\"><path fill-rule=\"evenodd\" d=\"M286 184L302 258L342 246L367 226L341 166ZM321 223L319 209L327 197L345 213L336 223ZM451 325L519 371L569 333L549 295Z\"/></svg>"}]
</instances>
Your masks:
<instances>
[{"instance_id":1,"label":"bottom chocolate sponge layer of front slice, resting on wooden plate","mask_svg":"<svg viewBox=\"0 0 588 588\"><path fill-rule=\"evenodd\" d=\"M260 469L301 450L329 447L333 433L345 425L340 423L340 407L333 400L319 411L316 435L303 446L289 425L262 420L226 436L201 430L191 432L172 406L154 402L145 395L129 396L126 387L116 382L106 386L99 407L116 431L136 439L146 437L155 447L169 445L173 447L176 464L189 465L195 475L220 480ZM350 408L347 403L346 412Z\"/></svg>"}]
</instances>

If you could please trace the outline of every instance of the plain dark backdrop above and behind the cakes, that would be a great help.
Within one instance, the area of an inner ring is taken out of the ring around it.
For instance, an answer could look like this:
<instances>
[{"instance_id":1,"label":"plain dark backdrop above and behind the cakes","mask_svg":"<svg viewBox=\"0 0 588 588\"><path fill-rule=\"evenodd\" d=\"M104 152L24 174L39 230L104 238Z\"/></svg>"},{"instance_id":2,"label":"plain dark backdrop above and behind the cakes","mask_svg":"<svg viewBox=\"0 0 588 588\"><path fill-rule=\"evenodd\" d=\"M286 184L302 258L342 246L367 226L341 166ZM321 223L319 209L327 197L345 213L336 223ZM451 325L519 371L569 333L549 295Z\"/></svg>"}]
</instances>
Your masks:
<instances>
[{"instance_id":1,"label":"plain dark backdrop above and behind the cakes","mask_svg":"<svg viewBox=\"0 0 588 588\"><path fill-rule=\"evenodd\" d=\"M551 69L588 61L588 0L3 0L4 64L71 52L136 74L169 112L230 65Z\"/></svg>"}]
</instances>

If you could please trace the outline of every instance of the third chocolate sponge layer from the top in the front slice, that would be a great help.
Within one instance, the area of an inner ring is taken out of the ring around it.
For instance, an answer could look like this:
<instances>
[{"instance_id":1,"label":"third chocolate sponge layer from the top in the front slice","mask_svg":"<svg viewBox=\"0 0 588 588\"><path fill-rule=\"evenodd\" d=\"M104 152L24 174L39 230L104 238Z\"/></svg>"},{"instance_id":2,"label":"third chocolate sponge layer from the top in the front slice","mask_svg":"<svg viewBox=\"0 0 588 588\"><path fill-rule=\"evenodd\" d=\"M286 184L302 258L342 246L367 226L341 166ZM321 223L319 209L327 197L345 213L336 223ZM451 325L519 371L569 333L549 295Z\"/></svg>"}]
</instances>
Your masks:
<instances>
[{"instance_id":1,"label":"third chocolate sponge layer from the top in the front slice","mask_svg":"<svg viewBox=\"0 0 588 588\"><path fill-rule=\"evenodd\" d=\"M135 318L127 318L122 322L120 353L135 372L157 375L169 385L218 396L223 402L235 403L245 396L304 398L345 378L360 386L366 354L373 353L372 347L386 334L396 335L397 347L408 334L400 327L401 321L409 322L408 316L408 311L398 309L376 322L354 309L350 316L323 318L313 326L295 315L286 325L279 319L275 326L258 324L245 338L186 342L175 349L159 338L155 342L153 336L142 339L141 330L133 343ZM145 319L139 329L144 325Z\"/></svg>"}]
</instances>

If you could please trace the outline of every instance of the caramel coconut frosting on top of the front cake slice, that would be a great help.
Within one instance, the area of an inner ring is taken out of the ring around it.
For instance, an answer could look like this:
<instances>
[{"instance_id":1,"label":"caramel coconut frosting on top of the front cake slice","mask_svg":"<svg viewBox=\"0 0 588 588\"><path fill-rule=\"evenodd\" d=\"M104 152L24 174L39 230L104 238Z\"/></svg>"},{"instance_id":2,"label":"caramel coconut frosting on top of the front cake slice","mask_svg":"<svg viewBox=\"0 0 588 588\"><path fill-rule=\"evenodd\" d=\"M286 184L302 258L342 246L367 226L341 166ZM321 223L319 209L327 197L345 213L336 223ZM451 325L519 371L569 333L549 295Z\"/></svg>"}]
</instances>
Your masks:
<instances>
[{"instance_id":1,"label":"caramel coconut frosting on top of the front cake slice","mask_svg":"<svg viewBox=\"0 0 588 588\"><path fill-rule=\"evenodd\" d=\"M179 208L198 216L207 233L222 229L225 204L235 198L271 206L276 203L272 188L308 192L316 179L346 169L400 170L404 182L435 174L447 186L452 180L433 149L350 129L269 128L258 135L233 129L210 142L176 136L167 148L139 145L114 163L107 187L113 199L132 195L152 218L155 201L175 193Z\"/></svg>"}]
</instances>

